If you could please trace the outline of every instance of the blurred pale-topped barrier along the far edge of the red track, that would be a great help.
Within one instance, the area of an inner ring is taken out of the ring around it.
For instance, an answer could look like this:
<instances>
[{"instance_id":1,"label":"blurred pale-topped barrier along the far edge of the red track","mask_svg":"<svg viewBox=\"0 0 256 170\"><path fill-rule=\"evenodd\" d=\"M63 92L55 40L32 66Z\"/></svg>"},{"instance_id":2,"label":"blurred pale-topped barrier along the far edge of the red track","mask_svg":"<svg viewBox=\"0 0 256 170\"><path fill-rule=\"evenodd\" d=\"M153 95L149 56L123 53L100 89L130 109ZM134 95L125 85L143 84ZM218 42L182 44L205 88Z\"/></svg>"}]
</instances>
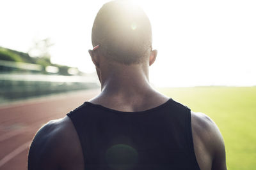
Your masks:
<instances>
[{"instance_id":1,"label":"blurred pale-topped barrier along the far edge of the red track","mask_svg":"<svg viewBox=\"0 0 256 170\"><path fill-rule=\"evenodd\" d=\"M97 76L0 73L0 103L71 90L99 88Z\"/></svg>"}]
</instances>

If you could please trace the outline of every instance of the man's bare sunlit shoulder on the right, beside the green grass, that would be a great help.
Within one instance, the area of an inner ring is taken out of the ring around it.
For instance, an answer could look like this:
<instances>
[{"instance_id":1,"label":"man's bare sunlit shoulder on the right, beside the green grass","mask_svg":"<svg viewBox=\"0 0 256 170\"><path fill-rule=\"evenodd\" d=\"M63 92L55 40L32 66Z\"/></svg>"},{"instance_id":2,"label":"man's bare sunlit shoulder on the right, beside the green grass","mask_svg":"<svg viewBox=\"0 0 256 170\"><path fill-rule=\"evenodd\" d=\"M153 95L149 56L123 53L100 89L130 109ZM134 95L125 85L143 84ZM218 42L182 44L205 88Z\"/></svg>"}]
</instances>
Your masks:
<instances>
[{"instance_id":1,"label":"man's bare sunlit shoulder on the right, beside the green grass","mask_svg":"<svg viewBox=\"0 0 256 170\"><path fill-rule=\"evenodd\" d=\"M204 113L191 111L196 159L201 169L227 169L225 145L218 126Z\"/></svg>"}]
</instances>

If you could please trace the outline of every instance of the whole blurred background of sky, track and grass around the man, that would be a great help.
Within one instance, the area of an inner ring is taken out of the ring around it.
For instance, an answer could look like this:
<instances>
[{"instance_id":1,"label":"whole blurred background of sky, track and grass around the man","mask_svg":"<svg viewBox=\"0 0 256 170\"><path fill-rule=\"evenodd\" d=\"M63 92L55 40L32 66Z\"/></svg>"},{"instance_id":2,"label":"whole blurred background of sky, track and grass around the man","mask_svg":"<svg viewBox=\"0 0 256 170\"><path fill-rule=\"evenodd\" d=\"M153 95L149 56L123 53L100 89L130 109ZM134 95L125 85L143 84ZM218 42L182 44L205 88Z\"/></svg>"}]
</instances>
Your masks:
<instances>
[{"instance_id":1,"label":"whole blurred background of sky, track and grass around the man","mask_svg":"<svg viewBox=\"0 0 256 170\"><path fill-rule=\"evenodd\" d=\"M106 2L1 1L0 169L26 169L35 132L99 94L88 50ZM152 86L216 122L228 169L255 169L256 2L134 3L158 50Z\"/></svg>"}]
</instances>

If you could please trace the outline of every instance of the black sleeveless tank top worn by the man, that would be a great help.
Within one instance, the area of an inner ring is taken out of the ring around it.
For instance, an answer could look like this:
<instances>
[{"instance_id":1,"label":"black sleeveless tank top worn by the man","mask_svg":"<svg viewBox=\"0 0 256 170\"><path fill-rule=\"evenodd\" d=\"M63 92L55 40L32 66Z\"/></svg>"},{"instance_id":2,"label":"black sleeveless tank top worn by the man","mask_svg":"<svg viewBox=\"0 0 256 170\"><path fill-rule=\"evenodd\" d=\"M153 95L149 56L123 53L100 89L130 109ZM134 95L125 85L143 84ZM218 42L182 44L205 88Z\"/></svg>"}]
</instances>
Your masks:
<instances>
[{"instance_id":1,"label":"black sleeveless tank top worn by the man","mask_svg":"<svg viewBox=\"0 0 256 170\"><path fill-rule=\"evenodd\" d=\"M86 101L67 116L79 136L86 170L200 169L191 111L171 98L136 112Z\"/></svg>"}]
</instances>

